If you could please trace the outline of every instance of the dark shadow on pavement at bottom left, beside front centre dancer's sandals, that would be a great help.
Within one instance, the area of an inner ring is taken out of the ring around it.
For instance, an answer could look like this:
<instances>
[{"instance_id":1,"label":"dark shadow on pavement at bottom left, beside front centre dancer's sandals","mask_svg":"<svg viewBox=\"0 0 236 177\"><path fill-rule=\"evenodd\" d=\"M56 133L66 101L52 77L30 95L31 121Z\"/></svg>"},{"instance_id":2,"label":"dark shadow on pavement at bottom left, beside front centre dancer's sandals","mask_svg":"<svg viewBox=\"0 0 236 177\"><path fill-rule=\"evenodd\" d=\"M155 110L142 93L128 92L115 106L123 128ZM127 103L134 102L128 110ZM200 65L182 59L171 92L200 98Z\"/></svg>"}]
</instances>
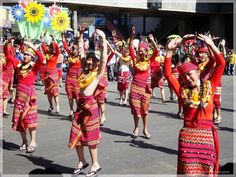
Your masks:
<instances>
[{"instance_id":1,"label":"dark shadow on pavement at bottom left, beside front centre dancer's sandals","mask_svg":"<svg viewBox=\"0 0 236 177\"><path fill-rule=\"evenodd\" d=\"M28 155L23 155L23 154L17 154L17 155L27 158L36 166L44 167L46 169L45 171L48 172L47 174L63 174L63 173L72 174L74 170L73 168L70 168L70 167L54 164L53 163L54 161L45 159L44 157L37 157L33 155L28 156ZM40 171L40 170L35 169L35 171L33 172L31 171L31 174L36 174L37 171Z\"/></svg>"}]
</instances>

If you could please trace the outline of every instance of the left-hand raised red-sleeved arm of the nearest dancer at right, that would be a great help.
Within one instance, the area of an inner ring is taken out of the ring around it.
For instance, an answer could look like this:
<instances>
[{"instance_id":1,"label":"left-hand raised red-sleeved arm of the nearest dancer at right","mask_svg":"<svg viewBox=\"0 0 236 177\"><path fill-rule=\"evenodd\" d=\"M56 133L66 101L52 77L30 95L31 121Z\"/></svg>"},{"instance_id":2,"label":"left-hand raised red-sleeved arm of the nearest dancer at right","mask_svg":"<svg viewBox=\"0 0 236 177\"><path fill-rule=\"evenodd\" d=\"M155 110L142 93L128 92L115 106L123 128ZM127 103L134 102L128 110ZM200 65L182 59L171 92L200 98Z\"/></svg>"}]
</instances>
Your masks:
<instances>
[{"instance_id":1,"label":"left-hand raised red-sleeved arm of the nearest dancer at right","mask_svg":"<svg viewBox=\"0 0 236 177\"><path fill-rule=\"evenodd\" d=\"M167 53L164 61L164 75L172 86L177 96L180 96L180 84L176 77L171 72L172 55L176 50L178 44L181 42L181 38L172 39L167 45Z\"/></svg>"}]
</instances>

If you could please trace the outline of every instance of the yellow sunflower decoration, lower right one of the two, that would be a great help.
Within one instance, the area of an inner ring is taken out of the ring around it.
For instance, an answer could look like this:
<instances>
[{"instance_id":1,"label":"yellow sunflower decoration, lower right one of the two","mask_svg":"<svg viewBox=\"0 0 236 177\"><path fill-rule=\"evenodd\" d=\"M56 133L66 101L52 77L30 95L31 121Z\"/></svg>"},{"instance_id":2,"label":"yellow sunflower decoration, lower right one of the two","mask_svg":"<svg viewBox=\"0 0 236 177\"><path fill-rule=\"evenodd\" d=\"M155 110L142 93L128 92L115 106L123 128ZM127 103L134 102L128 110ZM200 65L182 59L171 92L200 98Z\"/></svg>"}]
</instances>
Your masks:
<instances>
[{"instance_id":1,"label":"yellow sunflower decoration, lower right one of the two","mask_svg":"<svg viewBox=\"0 0 236 177\"><path fill-rule=\"evenodd\" d=\"M70 25L70 19L68 13L65 11L58 12L55 17L52 18L52 29L62 32L65 31Z\"/></svg>"}]
</instances>

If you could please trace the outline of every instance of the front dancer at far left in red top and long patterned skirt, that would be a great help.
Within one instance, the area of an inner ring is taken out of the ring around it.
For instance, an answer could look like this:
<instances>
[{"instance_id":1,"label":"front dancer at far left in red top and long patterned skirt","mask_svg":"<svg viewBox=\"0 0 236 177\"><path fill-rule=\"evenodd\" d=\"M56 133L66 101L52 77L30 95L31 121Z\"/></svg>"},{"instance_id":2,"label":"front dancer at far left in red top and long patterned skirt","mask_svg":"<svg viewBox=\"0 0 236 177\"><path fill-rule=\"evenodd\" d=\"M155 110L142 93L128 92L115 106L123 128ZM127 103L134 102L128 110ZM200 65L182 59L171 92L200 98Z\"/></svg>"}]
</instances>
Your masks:
<instances>
[{"instance_id":1,"label":"front dancer at far left in red top and long patterned skirt","mask_svg":"<svg viewBox=\"0 0 236 177\"><path fill-rule=\"evenodd\" d=\"M38 127L37 96L34 86L37 74L43 62L43 56L31 42L24 42L28 47L24 49L24 61L20 62L5 47L6 58L17 71L16 100L12 118L12 129L19 131L22 138L20 150L32 153L37 148L36 128ZM33 62L38 57L36 63ZM26 130L29 130L31 142L28 145Z\"/></svg>"}]
</instances>

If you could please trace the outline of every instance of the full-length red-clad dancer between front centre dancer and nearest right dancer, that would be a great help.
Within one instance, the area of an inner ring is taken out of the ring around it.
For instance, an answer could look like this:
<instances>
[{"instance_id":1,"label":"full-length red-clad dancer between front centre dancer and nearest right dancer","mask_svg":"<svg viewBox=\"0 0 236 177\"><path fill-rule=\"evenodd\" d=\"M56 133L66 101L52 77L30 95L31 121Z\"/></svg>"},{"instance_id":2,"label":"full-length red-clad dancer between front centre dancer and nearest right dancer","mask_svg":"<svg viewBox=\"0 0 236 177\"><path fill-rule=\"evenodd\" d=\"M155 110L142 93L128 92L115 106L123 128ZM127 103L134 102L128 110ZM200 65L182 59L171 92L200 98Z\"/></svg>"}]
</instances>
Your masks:
<instances>
[{"instance_id":1,"label":"full-length red-clad dancer between front centre dancer and nearest right dancer","mask_svg":"<svg viewBox=\"0 0 236 177\"><path fill-rule=\"evenodd\" d=\"M133 48L133 38L135 27L132 27L130 37L130 55L133 61L134 75L130 88L130 107L134 118L133 138L138 137L139 119L143 120L143 134L147 139L151 138L148 132L148 108L151 97L151 64L158 55L158 46L154 41L154 37L150 34L148 37L154 46L154 52L151 58L147 58L148 44L140 42L137 55Z\"/></svg>"}]
</instances>

